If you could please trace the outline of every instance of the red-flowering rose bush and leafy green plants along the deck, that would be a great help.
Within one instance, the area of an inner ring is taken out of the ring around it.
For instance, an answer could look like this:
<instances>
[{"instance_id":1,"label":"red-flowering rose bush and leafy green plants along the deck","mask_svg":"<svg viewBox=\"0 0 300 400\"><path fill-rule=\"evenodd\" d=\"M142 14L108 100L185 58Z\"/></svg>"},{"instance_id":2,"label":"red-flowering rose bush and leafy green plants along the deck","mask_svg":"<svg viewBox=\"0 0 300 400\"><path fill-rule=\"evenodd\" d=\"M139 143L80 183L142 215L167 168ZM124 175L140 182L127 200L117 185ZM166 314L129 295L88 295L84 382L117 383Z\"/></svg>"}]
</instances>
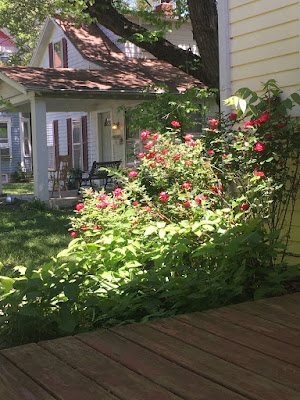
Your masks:
<instances>
[{"instance_id":1,"label":"red-flowering rose bush and leafy green plants along the deck","mask_svg":"<svg viewBox=\"0 0 300 400\"><path fill-rule=\"evenodd\" d=\"M211 119L201 139L175 119L143 131L139 167L117 172L111 193L85 191L69 248L5 280L2 337L20 344L284 292L276 211L299 186L299 126L275 84L249 93L247 121Z\"/></svg>"}]
</instances>

